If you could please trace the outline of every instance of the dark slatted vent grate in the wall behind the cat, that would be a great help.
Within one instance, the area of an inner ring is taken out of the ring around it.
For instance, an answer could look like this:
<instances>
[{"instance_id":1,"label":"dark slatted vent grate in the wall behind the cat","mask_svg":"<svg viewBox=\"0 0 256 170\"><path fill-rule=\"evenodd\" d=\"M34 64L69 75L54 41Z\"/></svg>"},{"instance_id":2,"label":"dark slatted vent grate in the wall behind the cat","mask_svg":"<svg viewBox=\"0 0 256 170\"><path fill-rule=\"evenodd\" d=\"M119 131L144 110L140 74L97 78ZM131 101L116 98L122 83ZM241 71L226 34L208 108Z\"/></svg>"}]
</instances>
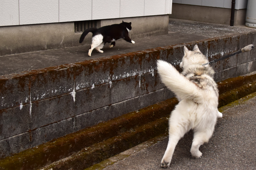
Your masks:
<instances>
[{"instance_id":1,"label":"dark slatted vent grate in the wall behind the cat","mask_svg":"<svg viewBox=\"0 0 256 170\"><path fill-rule=\"evenodd\" d=\"M99 28L100 20L75 21L75 32L84 32L88 28Z\"/></svg>"}]
</instances>

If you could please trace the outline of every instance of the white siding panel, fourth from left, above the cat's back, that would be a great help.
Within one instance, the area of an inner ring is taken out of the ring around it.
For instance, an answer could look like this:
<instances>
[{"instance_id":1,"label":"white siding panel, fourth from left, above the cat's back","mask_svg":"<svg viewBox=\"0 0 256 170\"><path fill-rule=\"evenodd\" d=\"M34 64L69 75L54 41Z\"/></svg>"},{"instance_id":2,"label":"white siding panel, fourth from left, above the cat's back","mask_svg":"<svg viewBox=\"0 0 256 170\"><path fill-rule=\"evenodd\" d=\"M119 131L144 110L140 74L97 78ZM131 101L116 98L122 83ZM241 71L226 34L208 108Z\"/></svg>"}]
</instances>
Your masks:
<instances>
[{"instance_id":1,"label":"white siding panel, fourth from left, above the cat's back","mask_svg":"<svg viewBox=\"0 0 256 170\"><path fill-rule=\"evenodd\" d=\"M93 0L92 19L111 19L120 17L120 0Z\"/></svg>"}]
</instances>

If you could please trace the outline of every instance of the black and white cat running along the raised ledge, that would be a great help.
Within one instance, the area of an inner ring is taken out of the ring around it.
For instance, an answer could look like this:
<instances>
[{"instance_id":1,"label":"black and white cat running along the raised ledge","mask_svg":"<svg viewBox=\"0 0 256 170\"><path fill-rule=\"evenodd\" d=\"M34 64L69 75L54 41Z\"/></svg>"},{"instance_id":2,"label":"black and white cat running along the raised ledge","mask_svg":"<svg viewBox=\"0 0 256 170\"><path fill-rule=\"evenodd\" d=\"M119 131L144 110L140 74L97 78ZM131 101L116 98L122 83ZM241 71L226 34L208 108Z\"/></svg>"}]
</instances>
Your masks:
<instances>
[{"instance_id":1,"label":"black and white cat running along the raised ledge","mask_svg":"<svg viewBox=\"0 0 256 170\"><path fill-rule=\"evenodd\" d=\"M120 38L123 38L125 41L134 44L135 42L131 40L131 38L129 37L129 31L131 31L132 29L131 24L132 23L126 23L122 21L122 23L120 24L107 25L98 29L88 28L82 33L79 43L83 42L84 37L89 32L93 33L91 47L88 52L89 56L91 56L91 52L93 51L94 48L98 52L102 53L103 51L101 50L101 48L103 48L103 46L106 43L111 43L109 46L110 48L114 47L116 45L115 41Z\"/></svg>"}]
</instances>

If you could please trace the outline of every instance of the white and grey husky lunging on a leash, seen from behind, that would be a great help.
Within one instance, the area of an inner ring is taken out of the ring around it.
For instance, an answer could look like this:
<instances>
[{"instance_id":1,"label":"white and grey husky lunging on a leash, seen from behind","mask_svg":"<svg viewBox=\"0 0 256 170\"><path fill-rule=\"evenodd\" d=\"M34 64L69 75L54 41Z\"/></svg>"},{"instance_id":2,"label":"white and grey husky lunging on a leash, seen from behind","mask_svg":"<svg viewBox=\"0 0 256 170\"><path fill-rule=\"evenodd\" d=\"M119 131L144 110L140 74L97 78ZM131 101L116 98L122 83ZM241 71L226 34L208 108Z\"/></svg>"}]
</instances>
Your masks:
<instances>
[{"instance_id":1,"label":"white and grey husky lunging on a leash, seen from behind","mask_svg":"<svg viewBox=\"0 0 256 170\"><path fill-rule=\"evenodd\" d=\"M222 117L218 111L218 88L214 82L214 70L202 66L208 59L197 45L193 51L184 46L184 56L180 74L171 64L158 60L157 70L162 82L173 91L179 103L172 111L169 119L169 142L163 155L161 166L169 167L178 141L189 130L193 130L194 138L191 146L193 158L200 158L199 147L208 142L214 131L217 118Z\"/></svg>"}]
</instances>

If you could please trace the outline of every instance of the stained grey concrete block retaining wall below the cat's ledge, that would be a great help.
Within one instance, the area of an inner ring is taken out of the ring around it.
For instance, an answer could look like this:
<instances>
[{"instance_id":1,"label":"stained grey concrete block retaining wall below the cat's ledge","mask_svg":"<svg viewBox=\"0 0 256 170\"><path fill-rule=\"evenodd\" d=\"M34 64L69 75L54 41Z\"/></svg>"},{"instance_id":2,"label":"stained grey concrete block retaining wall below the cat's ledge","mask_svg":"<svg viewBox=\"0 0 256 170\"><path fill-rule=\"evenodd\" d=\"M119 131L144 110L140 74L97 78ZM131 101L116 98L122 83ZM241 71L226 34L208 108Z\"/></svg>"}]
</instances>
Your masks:
<instances>
[{"instance_id":1,"label":"stained grey concrete block retaining wall below the cat's ledge","mask_svg":"<svg viewBox=\"0 0 256 170\"><path fill-rule=\"evenodd\" d=\"M172 98L156 60L177 66L183 46L210 60L256 44L256 33L116 55L0 76L0 158ZM217 82L256 71L256 51L212 64Z\"/></svg>"}]
</instances>

